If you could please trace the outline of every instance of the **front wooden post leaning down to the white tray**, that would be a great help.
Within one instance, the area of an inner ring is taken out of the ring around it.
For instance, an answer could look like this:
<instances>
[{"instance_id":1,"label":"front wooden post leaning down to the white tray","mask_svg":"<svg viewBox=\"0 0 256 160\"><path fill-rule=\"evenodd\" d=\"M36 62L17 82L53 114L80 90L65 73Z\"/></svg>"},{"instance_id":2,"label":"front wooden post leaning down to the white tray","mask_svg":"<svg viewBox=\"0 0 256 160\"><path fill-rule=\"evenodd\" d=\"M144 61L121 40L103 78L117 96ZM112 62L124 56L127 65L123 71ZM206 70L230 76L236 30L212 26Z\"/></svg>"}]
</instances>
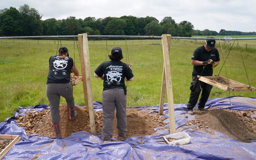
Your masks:
<instances>
[{"instance_id":1,"label":"front wooden post leaning down to the white tray","mask_svg":"<svg viewBox=\"0 0 256 160\"><path fill-rule=\"evenodd\" d=\"M169 39L169 41L168 41ZM166 91L167 91L167 99L168 99L168 110L169 110L169 124L170 124L170 134L176 133L176 125L175 125L175 115L174 115L174 103L173 103L173 94L172 94L172 78L171 78L171 70L170 70L170 39L171 35L162 35L162 48L164 55L164 74L166 81ZM163 77L164 80L164 77ZM162 83L164 85L164 83Z\"/></svg>"}]
</instances>

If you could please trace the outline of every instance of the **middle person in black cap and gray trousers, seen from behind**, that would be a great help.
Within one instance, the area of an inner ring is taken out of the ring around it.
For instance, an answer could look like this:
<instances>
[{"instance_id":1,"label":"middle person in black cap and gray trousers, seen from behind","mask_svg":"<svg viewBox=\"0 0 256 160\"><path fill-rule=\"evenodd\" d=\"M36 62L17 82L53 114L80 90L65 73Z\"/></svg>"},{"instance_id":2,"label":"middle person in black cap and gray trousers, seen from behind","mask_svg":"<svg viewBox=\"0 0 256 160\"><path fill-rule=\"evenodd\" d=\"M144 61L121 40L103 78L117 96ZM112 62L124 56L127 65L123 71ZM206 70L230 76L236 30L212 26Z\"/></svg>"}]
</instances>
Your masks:
<instances>
[{"instance_id":1,"label":"middle person in black cap and gray trousers, seen from behind","mask_svg":"<svg viewBox=\"0 0 256 160\"><path fill-rule=\"evenodd\" d=\"M113 136L113 119L116 109L117 129L120 137L126 137L126 86L124 79L132 81L134 75L128 64L121 62L123 59L122 49L114 47L111 60L102 62L94 71L94 77L103 81L102 113L103 113L103 135L102 140L111 141Z\"/></svg>"}]
</instances>

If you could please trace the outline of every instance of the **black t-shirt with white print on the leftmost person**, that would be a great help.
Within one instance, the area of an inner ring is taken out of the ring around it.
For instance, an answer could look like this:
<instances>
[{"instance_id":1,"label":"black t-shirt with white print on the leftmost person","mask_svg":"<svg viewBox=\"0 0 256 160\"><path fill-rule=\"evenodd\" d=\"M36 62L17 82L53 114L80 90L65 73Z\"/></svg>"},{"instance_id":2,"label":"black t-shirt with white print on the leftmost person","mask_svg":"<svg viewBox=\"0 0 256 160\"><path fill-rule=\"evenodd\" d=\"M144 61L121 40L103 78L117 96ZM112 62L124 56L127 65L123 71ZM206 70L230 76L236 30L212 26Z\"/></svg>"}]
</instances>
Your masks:
<instances>
[{"instance_id":1,"label":"black t-shirt with white print on the leftmost person","mask_svg":"<svg viewBox=\"0 0 256 160\"><path fill-rule=\"evenodd\" d=\"M73 63L71 57L60 59L59 56L51 56L49 59L49 72L46 84L70 82L70 73Z\"/></svg>"}]
</instances>

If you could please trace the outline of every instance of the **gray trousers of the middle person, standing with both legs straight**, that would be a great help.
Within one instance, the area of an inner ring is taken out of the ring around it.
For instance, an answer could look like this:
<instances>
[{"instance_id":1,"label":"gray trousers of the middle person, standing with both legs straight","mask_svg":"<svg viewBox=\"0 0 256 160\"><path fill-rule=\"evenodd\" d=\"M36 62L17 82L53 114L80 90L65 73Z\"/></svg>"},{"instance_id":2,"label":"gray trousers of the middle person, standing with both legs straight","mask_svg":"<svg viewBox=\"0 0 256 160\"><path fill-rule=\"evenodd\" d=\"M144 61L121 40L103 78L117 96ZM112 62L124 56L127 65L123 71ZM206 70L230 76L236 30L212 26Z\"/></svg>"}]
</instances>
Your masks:
<instances>
[{"instance_id":1,"label":"gray trousers of the middle person, standing with both legs straight","mask_svg":"<svg viewBox=\"0 0 256 160\"><path fill-rule=\"evenodd\" d=\"M126 121L126 95L124 88L112 88L102 92L103 135L104 140L111 140L113 135L113 119L116 109L118 135L125 136L127 132Z\"/></svg>"}]
</instances>

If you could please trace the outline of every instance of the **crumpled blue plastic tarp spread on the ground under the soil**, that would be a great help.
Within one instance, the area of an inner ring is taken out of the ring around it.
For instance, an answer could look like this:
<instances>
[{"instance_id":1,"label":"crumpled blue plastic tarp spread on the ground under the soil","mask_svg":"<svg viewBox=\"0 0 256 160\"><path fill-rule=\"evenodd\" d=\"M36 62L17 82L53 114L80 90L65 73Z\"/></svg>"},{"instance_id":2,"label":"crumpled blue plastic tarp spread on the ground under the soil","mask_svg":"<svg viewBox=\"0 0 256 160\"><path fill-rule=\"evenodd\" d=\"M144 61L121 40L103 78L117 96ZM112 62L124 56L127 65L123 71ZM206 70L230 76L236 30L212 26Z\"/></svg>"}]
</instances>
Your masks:
<instances>
[{"instance_id":1,"label":"crumpled blue plastic tarp spread on the ground under the soil","mask_svg":"<svg viewBox=\"0 0 256 160\"><path fill-rule=\"evenodd\" d=\"M230 103L231 102L231 103ZM206 108L256 110L256 98L240 96L227 98L212 98L206 103ZM183 145L169 145L164 136L169 135L168 129L156 128L155 135L129 137L124 141L102 141L101 135L92 135L85 131L73 133L70 137L50 138L38 135L27 135L22 127L18 127L13 120L26 111L40 111L48 109L46 105L36 105L28 108L19 107L13 117L0 123L0 134L19 135L22 140L17 142L3 159L40 159L40 160L84 160L84 159L111 159L111 160L148 160L148 159L256 159L256 141L250 143L239 142L222 133L213 131L214 135L206 131L196 131L185 124L194 119L188 115L186 104L175 104L174 114L176 132L184 131L190 135L190 143ZM159 105L133 107L139 110L150 110L148 114L158 113ZM100 102L94 102L94 109L101 111ZM168 104L164 104L164 117L169 121ZM254 117L255 115L252 115Z\"/></svg>"}]
</instances>

